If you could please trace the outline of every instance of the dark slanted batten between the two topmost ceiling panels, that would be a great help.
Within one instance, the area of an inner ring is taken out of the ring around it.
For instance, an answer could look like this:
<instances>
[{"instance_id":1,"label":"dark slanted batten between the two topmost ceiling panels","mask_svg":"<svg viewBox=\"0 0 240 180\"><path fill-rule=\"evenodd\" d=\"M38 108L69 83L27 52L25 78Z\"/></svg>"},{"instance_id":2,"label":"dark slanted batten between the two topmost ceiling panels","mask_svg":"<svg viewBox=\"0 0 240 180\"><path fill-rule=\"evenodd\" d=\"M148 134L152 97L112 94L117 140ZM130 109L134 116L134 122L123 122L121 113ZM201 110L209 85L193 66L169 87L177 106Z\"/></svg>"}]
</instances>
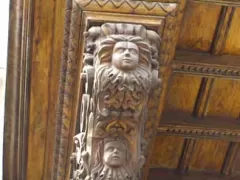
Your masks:
<instances>
[{"instance_id":1,"label":"dark slanted batten between the two topmost ceiling panels","mask_svg":"<svg viewBox=\"0 0 240 180\"><path fill-rule=\"evenodd\" d=\"M222 48L224 47L234 12L234 7L223 6L221 9L219 22L216 28L216 33L211 48L211 53L214 55L219 55L222 51Z\"/></svg>"}]
</instances>

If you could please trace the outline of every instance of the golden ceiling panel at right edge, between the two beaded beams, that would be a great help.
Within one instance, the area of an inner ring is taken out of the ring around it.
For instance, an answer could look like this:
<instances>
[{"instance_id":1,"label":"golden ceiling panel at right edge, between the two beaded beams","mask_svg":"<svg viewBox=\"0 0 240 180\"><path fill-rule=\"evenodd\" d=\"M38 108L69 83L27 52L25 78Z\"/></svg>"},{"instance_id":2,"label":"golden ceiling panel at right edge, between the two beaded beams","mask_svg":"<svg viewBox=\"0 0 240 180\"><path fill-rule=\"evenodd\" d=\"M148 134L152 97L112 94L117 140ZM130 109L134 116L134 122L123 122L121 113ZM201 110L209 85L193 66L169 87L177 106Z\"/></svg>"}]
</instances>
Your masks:
<instances>
[{"instance_id":1,"label":"golden ceiling panel at right edge, between the two beaded beams","mask_svg":"<svg viewBox=\"0 0 240 180\"><path fill-rule=\"evenodd\" d=\"M240 81L216 79L209 100L207 116L239 118Z\"/></svg>"}]
</instances>

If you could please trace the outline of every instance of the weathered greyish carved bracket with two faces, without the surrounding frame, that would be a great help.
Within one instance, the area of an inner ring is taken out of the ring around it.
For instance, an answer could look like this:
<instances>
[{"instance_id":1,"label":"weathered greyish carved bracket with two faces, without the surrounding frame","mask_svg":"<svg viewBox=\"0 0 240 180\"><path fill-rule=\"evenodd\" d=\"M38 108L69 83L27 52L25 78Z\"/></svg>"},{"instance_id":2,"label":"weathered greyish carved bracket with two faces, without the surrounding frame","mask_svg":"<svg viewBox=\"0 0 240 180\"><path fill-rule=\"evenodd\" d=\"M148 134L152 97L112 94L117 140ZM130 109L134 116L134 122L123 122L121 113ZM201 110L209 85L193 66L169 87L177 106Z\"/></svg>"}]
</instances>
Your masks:
<instances>
[{"instance_id":1,"label":"weathered greyish carved bracket with two faces, without the surrounding frame","mask_svg":"<svg viewBox=\"0 0 240 180\"><path fill-rule=\"evenodd\" d=\"M142 25L106 23L89 28L85 42L72 179L140 179L149 93L161 83L161 39Z\"/></svg>"}]
</instances>

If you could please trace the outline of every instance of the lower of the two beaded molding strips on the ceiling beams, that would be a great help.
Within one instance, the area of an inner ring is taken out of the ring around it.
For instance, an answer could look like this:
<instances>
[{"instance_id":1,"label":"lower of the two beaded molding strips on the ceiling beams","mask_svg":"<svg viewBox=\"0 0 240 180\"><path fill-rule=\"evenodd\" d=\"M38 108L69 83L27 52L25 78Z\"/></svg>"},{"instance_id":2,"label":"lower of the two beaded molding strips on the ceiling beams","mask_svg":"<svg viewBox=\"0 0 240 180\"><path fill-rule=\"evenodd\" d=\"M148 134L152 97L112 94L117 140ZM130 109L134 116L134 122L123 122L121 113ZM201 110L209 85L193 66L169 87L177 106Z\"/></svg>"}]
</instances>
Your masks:
<instances>
[{"instance_id":1,"label":"lower of the two beaded molding strips on the ceiling beams","mask_svg":"<svg viewBox=\"0 0 240 180\"><path fill-rule=\"evenodd\" d=\"M233 129L164 125L158 128L158 135L175 135L192 138L219 138L240 142L240 131Z\"/></svg>"}]
</instances>

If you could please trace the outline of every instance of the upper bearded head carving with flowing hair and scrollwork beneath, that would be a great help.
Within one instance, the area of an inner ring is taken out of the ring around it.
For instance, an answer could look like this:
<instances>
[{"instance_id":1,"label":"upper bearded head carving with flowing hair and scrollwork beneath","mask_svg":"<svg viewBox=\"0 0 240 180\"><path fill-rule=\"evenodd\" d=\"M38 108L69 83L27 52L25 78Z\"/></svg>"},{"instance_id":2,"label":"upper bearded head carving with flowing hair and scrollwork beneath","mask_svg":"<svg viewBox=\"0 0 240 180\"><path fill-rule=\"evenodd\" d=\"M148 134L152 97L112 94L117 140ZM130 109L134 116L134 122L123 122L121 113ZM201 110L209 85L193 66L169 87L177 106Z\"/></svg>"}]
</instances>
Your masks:
<instances>
[{"instance_id":1,"label":"upper bearded head carving with flowing hair and scrollwork beneath","mask_svg":"<svg viewBox=\"0 0 240 180\"><path fill-rule=\"evenodd\" d=\"M139 118L151 88L151 51L141 37L112 35L101 42L96 69L102 116Z\"/></svg>"}]
</instances>

